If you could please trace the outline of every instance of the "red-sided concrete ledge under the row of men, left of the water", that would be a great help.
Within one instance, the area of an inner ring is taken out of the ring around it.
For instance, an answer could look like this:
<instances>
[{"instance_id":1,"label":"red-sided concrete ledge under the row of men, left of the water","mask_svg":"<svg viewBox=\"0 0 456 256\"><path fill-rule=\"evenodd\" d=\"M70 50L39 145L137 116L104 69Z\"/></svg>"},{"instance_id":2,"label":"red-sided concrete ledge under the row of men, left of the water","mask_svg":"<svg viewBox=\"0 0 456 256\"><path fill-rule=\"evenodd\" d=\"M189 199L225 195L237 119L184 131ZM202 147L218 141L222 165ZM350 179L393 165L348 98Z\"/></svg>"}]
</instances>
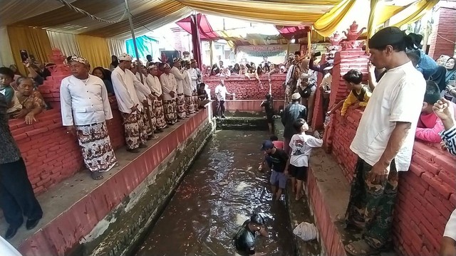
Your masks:
<instances>
[{"instance_id":1,"label":"red-sided concrete ledge under the row of men, left of the water","mask_svg":"<svg viewBox=\"0 0 456 256\"><path fill-rule=\"evenodd\" d=\"M200 127L207 126L208 112L210 108L167 129L160 134L160 139L148 142L149 147L140 154L131 154L125 149L116 151L120 166L105 174L101 181L94 181L86 171L79 172L38 196L44 210L43 219L34 230L21 228L11 244L24 256L68 253L116 206L130 200L130 193L157 171L172 151ZM0 229L6 230L6 223L1 223Z\"/></svg>"}]
</instances>

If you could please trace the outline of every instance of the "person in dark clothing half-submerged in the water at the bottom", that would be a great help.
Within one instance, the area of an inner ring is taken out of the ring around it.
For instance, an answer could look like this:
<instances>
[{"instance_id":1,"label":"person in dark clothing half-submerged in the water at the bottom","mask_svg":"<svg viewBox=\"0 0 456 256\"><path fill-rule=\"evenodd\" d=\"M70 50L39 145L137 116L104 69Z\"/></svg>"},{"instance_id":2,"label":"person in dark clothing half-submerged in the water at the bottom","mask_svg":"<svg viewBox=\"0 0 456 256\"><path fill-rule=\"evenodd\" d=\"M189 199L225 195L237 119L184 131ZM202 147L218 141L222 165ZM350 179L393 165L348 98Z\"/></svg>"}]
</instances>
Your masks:
<instances>
[{"instance_id":1,"label":"person in dark clothing half-submerged in the water at the bottom","mask_svg":"<svg viewBox=\"0 0 456 256\"><path fill-rule=\"evenodd\" d=\"M269 234L264 228L264 218L254 213L246 220L234 235L234 246L240 255L265 255L264 252L255 252L255 238L258 235L267 237Z\"/></svg>"}]
</instances>

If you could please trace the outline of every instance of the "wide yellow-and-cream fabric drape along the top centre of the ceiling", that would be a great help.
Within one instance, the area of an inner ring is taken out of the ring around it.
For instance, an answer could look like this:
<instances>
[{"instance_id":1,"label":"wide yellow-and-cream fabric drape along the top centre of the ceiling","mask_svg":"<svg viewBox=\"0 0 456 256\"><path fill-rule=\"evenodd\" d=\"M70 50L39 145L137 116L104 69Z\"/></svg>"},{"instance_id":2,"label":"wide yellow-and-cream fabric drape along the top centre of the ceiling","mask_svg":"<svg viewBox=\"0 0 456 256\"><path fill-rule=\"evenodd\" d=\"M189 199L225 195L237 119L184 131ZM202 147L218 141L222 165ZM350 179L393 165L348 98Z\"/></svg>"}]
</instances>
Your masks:
<instances>
[{"instance_id":1,"label":"wide yellow-and-cream fabric drape along the top centre of the ceiling","mask_svg":"<svg viewBox=\"0 0 456 256\"><path fill-rule=\"evenodd\" d=\"M334 1L300 1L301 4L283 4L266 1L246 0L178 0L195 11L204 14L224 15L274 25L298 26L314 23ZM346 1L346 0L344 0ZM309 4L310 3L310 4Z\"/></svg>"}]
</instances>

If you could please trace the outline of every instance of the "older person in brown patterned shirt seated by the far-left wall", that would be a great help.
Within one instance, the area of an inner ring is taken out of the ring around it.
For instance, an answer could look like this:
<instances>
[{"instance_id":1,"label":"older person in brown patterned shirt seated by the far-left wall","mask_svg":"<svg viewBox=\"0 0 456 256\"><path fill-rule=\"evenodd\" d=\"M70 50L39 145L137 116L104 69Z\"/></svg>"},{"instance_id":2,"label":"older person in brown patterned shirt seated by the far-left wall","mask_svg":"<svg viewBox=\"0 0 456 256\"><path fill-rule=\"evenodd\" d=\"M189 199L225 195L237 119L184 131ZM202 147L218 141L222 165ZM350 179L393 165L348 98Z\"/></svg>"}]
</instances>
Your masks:
<instances>
[{"instance_id":1,"label":"older person in brown patterned shirt seated by the far-left wall","mask_svg":"<svg viewBox=\"0 0 456 256\"><path fill-rule=\"evenodd\" d=\"M24 118L26 124L36 122L36 114L43 112L45 103L41 93L33 90L33 80L31 78L21 77L17 81L18 91L17 99L22 105L22 110L14 115L14 118Z\"/></svg>"}]
</instances>

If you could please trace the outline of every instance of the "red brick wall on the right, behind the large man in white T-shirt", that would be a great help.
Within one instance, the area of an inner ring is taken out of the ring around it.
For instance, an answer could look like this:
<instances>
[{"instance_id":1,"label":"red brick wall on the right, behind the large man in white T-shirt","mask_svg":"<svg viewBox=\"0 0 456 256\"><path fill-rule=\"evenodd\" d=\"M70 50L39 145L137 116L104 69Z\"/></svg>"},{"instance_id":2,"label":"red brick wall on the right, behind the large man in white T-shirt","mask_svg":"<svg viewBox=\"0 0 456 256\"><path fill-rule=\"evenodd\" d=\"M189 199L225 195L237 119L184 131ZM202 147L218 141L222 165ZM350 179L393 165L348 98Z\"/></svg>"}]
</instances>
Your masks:
<instances>
[{"instance_id":1,"label":"red brick wall on the right, behind the large man in white T-shirt","mask_svg":"<svg viewBox=\"0 0 456 256\"><path fill-rule=\"evenodd\" d=\"M350 150L361 110L348 110L347 123L333 114L332 154L351 181L357 156ZM400 173L393 235L401 255L437 255L447 219L456 206L456 158L437 144L415 142L410 171Z\"/></svg>"}]
</instances>

